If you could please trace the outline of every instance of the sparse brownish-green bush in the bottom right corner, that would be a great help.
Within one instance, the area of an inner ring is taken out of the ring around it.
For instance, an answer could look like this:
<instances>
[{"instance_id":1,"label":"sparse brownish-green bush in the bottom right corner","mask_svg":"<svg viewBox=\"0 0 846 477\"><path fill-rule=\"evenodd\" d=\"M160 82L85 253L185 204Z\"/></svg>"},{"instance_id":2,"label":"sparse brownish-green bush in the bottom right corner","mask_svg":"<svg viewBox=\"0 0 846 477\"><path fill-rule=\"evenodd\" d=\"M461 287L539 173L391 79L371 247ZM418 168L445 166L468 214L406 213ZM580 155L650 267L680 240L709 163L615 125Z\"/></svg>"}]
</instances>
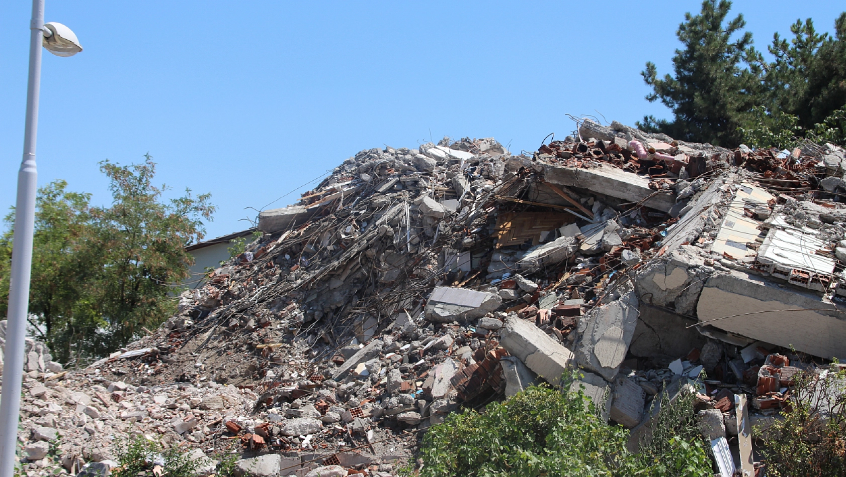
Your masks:
<instances>
[{"instance_id":1,"label":"sparse brownish-green bush in the bottom right corner","mask_svg":"<svg viewBox=\"0 0 846 477\"><path fill-rule=\"evenodd\" d=\"M796 379L792 409L761 432L766 474L772 477L846 475L846 371Z\"/></svg>"}]
</instances>

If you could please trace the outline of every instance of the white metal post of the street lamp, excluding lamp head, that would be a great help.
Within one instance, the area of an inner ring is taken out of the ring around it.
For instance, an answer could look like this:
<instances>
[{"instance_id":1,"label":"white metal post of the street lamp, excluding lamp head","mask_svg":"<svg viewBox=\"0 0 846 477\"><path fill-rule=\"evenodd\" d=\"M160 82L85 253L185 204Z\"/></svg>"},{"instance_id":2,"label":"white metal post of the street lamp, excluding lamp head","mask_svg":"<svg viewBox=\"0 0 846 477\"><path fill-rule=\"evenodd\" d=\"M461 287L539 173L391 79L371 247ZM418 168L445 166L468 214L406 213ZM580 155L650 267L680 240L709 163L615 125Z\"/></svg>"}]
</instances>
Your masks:
<instances>
[{"instance_id":1,"label":"white metal post of the street lamp, excluding lamp head","mask_svg":"<svg viewBox=\"0 0 846 477\"><path fill-rule=\"evenodd\" d=\"M38 90L41 87L41 41L44 0L32 0L30 21L30 79L26 89L24 159L18 172L18 198L14 213L12 279L8 291L8 324L3 348L3 394L0 395L0 477L13 477L15 442L18 439L20 385L24 372L26 315L30 301L32 234L36 220L36 133Z\"/></svg>"}]
</instances>

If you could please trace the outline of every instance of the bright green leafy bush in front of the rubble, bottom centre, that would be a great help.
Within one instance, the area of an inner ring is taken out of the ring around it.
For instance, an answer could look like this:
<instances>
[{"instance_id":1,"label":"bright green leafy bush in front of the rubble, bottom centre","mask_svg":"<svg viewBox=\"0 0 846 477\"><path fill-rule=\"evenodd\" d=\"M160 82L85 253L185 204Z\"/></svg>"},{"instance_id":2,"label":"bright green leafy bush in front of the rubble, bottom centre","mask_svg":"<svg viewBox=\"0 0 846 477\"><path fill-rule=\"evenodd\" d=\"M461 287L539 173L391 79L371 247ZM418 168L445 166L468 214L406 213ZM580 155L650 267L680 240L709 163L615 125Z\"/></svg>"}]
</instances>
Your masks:
<instances>
[{"instance_id":1,"label":"bright green leafy bush in front of the rubble, bottom centre","mask_svg":"<svg viewBox=\"0 0 846 477\"><path fill-rule=\"evenodd\" d=\"M629 453L629 431L607 425L582 390L531 387L484 412L453 414L424 438L421 477L711 475L693 423L692 396L665 406L644 452Z\"/></svg>"}]
</instances>

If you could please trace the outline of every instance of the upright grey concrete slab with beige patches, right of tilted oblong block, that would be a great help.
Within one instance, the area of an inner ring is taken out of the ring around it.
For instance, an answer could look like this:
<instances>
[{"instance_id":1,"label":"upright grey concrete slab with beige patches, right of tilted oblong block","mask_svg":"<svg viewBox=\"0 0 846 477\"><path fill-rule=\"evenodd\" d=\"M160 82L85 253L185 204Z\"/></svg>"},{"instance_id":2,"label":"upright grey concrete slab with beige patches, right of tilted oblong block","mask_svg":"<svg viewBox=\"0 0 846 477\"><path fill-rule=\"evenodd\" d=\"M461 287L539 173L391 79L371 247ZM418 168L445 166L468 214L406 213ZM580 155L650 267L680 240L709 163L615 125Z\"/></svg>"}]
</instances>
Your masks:
<instances>
[{"instance_id":1,"label":"upright grey concrete slab with beige patches, right of tilted oblong block","mask_svg":"<svg viewBox=\"0 0 846 477\"><path fill-rule=\"evenodd\" d=\"M637 295L629 289L617 300L596 306L580 320L581 339L575 350L580 366L613 381L634 336L637 306Z\"/></svg>"}]
</instances>

